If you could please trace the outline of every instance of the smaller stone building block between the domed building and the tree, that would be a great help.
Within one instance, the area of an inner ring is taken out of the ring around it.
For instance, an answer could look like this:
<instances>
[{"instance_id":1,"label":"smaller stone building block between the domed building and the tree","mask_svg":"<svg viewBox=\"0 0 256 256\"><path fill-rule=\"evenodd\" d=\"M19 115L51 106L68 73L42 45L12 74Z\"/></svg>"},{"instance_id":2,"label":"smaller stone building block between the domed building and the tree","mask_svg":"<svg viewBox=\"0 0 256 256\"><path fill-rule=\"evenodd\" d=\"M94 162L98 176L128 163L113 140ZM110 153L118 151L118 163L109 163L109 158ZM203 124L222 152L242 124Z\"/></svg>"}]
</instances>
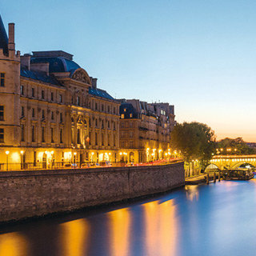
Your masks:
<instances>
[{"instance_id":1,"label":"smaller stone building block between the domed building and the tree","mask_svg":"<svg viewBox=\"0 0 256 256\"><path fill-rule=\"evenodd\" d=\"M174 106L122 99L120 155L125 162L150 162L170 155Z\"/></svg>"}]
</instances>

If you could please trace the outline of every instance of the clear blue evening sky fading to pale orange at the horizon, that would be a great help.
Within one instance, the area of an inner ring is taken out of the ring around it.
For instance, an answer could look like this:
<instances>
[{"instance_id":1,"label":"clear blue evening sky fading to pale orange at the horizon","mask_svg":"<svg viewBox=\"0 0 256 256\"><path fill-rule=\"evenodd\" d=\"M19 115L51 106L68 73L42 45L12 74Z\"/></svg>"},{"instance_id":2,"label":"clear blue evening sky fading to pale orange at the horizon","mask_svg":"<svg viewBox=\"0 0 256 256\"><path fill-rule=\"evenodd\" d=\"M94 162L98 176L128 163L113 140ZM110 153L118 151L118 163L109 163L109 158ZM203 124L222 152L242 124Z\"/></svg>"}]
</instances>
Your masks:
<instances>
[{"instance_id":1,"label":"clear blue evening sky fading to pale orange at the horizon","mask_svg":"<svg viewBox=\"0 0 256 256\"><path fill-rule=\"evenodd\" d=\"M16 48L74 54L116 98L170 102L178 122L256 142L256 1L1 0Z\"/></svg>"}]
</instances>

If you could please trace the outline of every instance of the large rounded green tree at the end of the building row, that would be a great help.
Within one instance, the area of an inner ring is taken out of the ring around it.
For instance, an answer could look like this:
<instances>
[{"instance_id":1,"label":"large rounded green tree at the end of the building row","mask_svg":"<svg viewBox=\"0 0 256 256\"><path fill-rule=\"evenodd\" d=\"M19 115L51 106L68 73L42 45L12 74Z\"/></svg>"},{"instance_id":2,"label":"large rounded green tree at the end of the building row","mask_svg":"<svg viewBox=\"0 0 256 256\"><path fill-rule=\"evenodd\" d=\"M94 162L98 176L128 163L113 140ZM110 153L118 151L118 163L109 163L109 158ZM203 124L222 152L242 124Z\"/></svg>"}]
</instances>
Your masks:
<instances>
[{"instance_id":1,"label":"large rounded green tree at the end of the building row","mask_svg":"<svg viewBox=\"0 0 256 256\"><path fill-rule=\"evenodd\" d=\"M180 150L186 162L208 162L215 151L214 131L199 122L178 123L170 136L173 150Z\"/></svg>"}]
</instances>

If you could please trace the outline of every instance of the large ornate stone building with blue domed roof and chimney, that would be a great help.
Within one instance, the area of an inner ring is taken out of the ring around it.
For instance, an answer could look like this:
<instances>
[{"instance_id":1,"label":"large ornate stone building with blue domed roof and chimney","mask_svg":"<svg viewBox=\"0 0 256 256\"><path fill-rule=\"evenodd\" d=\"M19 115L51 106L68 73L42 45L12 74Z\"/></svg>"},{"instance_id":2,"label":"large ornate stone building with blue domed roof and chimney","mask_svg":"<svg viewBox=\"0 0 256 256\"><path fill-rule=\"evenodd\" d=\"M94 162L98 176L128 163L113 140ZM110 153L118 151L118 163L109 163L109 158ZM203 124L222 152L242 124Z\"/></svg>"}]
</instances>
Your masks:
<instances>
[{"instance_id":1,"label":"large ornate stone building with blue domed roof and chimney","mask_svg":"<svg viewBox=\"0 0 256 256\"><path fill-rule=\"evenodd\" d=\"M0 169L118 161L120 103L62 50L20 56L0 17Z\"/></svg>"}]
</instances>

